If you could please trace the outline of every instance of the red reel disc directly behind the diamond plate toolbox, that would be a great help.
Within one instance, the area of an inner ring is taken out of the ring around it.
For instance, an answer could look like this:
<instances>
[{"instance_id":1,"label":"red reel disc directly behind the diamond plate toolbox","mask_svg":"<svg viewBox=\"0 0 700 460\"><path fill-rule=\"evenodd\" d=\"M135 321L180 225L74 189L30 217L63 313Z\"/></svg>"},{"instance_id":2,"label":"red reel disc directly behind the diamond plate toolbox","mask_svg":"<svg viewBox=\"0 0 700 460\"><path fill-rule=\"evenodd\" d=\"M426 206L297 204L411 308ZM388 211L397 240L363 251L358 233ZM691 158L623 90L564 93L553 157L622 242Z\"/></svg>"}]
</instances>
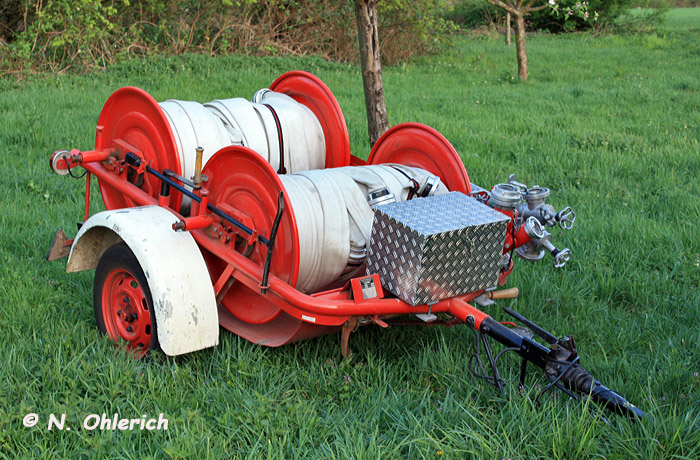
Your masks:
<instances>
[{"instance_id":1,"label":"red reel disc directly behind the diamond plate toolbox","mask_svg":"<svg viewBox=\"0 0 700 460\"><path fill-rule=\"evenodd\" d=\"M430 171L452 192L471 192L464 163L445 137L421 123L401 123L374 144L367 164L398 163Z\"/></svg>"}]
</instances>

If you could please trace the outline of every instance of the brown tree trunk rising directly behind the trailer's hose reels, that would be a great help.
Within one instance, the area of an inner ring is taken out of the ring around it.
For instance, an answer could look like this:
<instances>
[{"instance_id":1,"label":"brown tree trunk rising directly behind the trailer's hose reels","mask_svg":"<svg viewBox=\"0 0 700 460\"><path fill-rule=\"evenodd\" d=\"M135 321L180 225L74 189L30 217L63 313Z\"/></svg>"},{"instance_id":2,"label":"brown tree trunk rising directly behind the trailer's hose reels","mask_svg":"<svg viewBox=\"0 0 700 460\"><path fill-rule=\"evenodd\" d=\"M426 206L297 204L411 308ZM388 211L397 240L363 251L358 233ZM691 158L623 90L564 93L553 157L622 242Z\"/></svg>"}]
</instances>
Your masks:
<instances>
[{"instance_id":1,"label":"brown tree trunk rising directly behind the trailer's hose reels","mask_svg":"<svg viewBox=\"0 0 700 460\"><path fill-rule=\"evenodd\" d=\"M371 146L389 129L389 115L386 112L384 86L382 85L382 63L377 30L377 2L378 0L355 0L357 35L360 41L360 61L362 63L362 83L365 88L367 129Z\"/></svg>"}]
</instances>

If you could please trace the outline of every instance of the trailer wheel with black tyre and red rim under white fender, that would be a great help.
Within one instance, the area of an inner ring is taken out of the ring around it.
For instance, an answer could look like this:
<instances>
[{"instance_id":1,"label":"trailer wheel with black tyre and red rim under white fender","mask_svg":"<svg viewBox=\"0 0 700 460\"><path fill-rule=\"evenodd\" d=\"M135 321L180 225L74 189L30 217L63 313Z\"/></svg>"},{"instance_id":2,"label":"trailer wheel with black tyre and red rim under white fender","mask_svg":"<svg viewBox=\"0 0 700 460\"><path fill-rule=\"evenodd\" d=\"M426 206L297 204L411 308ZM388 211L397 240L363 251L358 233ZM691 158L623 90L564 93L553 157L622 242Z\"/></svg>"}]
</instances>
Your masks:
<instances>
[{"instance_id":1,"label":"trailer wheel with black tyre and red rim under white fender","mask_svg":"<svg viewBox=\"0 0 700 460\"><path fill-rule=\"evenodd\" d=\"M125 340L136 357L159 348L151 290L126 243L114 244L102 254L93 303L97 328L112 340Z\"/></svg>"}]
</instances>

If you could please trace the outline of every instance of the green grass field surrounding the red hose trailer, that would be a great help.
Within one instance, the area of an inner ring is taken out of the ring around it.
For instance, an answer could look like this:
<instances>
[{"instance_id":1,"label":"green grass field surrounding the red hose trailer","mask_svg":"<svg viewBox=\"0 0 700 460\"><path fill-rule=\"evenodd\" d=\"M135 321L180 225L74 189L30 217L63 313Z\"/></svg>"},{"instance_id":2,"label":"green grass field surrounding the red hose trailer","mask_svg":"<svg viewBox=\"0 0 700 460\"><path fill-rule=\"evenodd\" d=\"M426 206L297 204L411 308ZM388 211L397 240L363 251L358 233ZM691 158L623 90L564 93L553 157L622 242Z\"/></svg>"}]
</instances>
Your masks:
<instances>
[{"instance_id":1,"label":"green grass field surrounding the red hose trailer","mask_svg":"<svg viewBox=\"0 0 700 460\"><path fill-rule=\"evenodd\" d=\"M366 156L360 73L313 57L184 56L0 80L0 458L700 458L699 32L692 9L651 35L533 36L526 84L515 51L487 38L384 72L390 122L438 129L472 182L516 172L575 209L574 229L554 235L571 262L517 260L509 285L522 294L505 305L573 334L583 365L647 411L640 423L561 394L536 407L545 380L518 392L514 358L498 394L470 377L475 342L460 327L367 327L347 361L337 336L269 349L227 332L213 349L134 361L97 332L92 272L43 260L57 227L75 234L84 188L50 172L50 153L90 149L121 86L159 101L250 97L303 69L334 91ZM103 412L163 413L169 429L78 429ZM22 425L28 413L40 426ZM52 413L76 428L47 431Z\"/></svg>"}]
</instances>

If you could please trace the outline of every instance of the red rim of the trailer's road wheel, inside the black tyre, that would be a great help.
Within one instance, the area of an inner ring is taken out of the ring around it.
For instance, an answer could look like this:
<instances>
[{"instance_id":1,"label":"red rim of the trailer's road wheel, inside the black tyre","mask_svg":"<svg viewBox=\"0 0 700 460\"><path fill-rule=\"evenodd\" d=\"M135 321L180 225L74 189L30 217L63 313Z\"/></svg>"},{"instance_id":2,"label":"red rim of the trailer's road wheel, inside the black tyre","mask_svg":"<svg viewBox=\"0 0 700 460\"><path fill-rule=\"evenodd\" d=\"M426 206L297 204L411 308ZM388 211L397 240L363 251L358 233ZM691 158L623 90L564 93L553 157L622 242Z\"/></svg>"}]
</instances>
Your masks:
<instances>
[{"instance_id":1,"label":"red rim of the trailer's road wheel, inside the black tyre","mask_svg":"<svg viewBox=\"0 0 700 460\"><path fill-rule=\"evenodd\" d=\"M151 348L153 325L146 293L123 268L110 271L102 285L102 317L112 340L124 339L138 357Z\"/></svg>"}]
</instances>

